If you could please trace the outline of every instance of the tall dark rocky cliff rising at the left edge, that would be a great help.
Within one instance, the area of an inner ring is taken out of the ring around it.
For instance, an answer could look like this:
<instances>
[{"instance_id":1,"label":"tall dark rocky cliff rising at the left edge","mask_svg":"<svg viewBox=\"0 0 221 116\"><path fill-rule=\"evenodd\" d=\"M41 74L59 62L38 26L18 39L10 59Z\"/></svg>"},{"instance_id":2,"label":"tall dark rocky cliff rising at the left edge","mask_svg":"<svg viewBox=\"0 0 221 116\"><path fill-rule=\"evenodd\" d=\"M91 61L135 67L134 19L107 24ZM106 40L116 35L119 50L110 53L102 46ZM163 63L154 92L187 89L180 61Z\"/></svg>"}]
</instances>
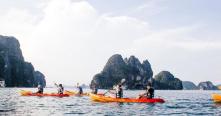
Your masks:
<instances>
[{"instance_id":1,"label":"tall dark rocky cliff rising at the left edge","mask_svg":"<svg viewBox=\"0 0 221 116\"><path fill-rule=\"evenodd\" d=\"M24 61L18 40L0 35L0 78L5 80L6 87L33 87L39 82L45 83L44 75L38 74L31 63Z\"/></svg>"}]
</instances>

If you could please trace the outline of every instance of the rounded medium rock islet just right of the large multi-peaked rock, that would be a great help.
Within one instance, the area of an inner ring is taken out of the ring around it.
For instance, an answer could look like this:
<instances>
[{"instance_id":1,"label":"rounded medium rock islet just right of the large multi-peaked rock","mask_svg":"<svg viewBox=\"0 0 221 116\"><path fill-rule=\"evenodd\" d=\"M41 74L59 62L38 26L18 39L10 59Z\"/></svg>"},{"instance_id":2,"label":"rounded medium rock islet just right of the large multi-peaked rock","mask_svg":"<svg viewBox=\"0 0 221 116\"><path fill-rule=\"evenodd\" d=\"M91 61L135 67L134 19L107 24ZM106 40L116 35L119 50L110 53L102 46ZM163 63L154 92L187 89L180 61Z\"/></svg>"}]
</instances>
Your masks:
<instances>
[{"instance_id":1,"label":"rounded medium rock islet just right of the large multi-peaked rock","mask_svg":"<svg viewBox=\"0 0 221 116\"><path fill-rule=\"evenodd\" d=\"M154 88L159 90L182 90L182 81L170 72L162 71L154 77Z\"/></svg>"}]
</instances>

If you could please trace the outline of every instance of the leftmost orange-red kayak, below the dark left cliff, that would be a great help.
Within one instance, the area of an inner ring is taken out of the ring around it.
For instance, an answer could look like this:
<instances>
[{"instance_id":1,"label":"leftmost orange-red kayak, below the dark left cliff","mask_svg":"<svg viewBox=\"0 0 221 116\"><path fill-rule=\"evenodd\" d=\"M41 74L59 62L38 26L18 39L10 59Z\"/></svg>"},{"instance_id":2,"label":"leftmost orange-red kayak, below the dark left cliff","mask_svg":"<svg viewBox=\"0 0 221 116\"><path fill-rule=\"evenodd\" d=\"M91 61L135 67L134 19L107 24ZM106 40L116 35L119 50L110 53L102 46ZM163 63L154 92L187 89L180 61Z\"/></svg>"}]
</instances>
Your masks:
<instances>
[{"instance_id":1,"label":"leftmost orange-red kayak, below the dark left cliff","mask_svg":"<svg viewBox=\"0 0 221 116\"><path fill-rule=\"evenodd\" d=\"M33 93L31 91L26 91L26 90L21 90L20 91L21 96L39 96L39 97L44 97L44 96L53 96L53 97L69 97L70 95L68 94L57 94L57 93Z\"/></svg>"}]
</instances>

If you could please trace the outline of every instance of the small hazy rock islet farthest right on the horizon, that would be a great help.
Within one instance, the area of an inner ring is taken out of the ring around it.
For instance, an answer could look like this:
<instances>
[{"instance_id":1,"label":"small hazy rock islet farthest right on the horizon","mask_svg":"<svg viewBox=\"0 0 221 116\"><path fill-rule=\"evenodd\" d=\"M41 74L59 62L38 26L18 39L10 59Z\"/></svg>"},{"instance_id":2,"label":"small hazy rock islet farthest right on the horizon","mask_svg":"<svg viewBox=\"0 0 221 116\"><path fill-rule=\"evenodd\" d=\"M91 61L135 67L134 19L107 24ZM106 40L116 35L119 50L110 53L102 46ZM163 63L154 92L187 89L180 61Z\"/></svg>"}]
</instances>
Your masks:
<instances>
[{"instance_id":1,"label":"small hazy rock islet farthest right on the horizon","mask_svg":"<svg viewBox=\"0 0 221 116\"><path fill-rule=\"evenodd\" d=\"M210 81L200 82L198 88L200 90L218 90L218 88Z\"/></svg>"}]
</instances>

